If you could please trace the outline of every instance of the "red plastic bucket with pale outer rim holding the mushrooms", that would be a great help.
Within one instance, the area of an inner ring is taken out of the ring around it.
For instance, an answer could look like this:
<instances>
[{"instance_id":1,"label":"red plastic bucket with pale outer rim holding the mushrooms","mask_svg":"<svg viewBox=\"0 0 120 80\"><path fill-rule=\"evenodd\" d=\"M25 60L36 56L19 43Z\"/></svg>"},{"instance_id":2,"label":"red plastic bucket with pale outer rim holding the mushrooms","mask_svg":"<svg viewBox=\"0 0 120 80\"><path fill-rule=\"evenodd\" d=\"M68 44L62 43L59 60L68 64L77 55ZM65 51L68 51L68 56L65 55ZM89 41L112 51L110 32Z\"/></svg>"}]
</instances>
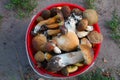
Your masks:
<instances>
[{"instance_id":1,"label":"red plastic bucket with pale outer rim holding the mushrooms","mask_svg":"<svg viewBox=\"0 0 120 80\"><path fill-rule=\"evenodd\" d=\"M69 6L71 9L73 9L73 8L79 8L82 11L85 10L80 5L70 4L70 3L57 3L57 4L50 5L50 6L48 6L45 9L51 9L52 7L61 7L61 6L65 6L65 5ZM98 56L101 43L96 44L94 46L94 48L93 48L94 49L94 59L93 59L92 63L90 65L85 65L83 67L80 67L76 72L71 73L69 76L64 76L64 75L61 75L60 73L47 72L44 68L38 68L37 67L36 61L34 59L35 52L33 51L32 43L31 43L31 40L33 38L33 36L31 35L31 31L33 30L33 28L37 24L36 19L38 18L38 16L41 15L41 12L42 11L38 12L33 17L33 19L31 20L31 22L30 22L30 24L28 26L27 32L26 32L26 40L25 40L26 43L25 44L26 44L27 57L28 57L30 66L33 68L33 70L38 75L44 76L44 77L47 77L47 78L68 78L68 77L70 78L70 77L74 77L74 76L80 75L80 74L84 73L85 71L87 71L92 66L92 64L95 62L95 60L96 60L96 58ZM98 26L98 23L94 24L93 26L94 26L94 30L100 32L100 28Z\"/></svg>"}]
</instances>

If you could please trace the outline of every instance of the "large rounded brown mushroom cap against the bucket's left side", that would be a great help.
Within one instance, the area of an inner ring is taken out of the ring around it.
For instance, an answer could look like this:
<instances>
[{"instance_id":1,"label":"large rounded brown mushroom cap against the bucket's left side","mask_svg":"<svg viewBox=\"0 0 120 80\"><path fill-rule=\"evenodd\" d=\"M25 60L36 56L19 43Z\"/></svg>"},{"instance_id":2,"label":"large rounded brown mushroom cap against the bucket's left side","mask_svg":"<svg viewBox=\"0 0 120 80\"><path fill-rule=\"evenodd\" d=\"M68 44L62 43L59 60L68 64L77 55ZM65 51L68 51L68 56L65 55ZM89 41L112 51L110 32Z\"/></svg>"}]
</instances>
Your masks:
<instances>
[{"instance_id":1,"label":"large rounded brown mushroom cap against the bucket's left side","mask_svg":"<svg viewBox=\"0 0 120 80\"><path fill-rule=\"evenodd\" d=\"M45 51L45 44L47 43L47 38L44 34L38 34L32 39L32 46L36 51Z\"/></svg>"}]
</instances>

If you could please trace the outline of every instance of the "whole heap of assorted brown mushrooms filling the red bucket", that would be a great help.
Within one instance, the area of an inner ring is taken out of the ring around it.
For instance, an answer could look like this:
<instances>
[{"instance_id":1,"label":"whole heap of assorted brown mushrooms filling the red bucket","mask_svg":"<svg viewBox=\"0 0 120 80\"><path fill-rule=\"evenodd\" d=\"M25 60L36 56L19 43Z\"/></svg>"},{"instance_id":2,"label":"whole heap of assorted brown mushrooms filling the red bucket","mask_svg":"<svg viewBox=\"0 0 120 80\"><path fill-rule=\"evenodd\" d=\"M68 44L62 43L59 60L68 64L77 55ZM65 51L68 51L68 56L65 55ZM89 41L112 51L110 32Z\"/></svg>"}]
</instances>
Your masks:
<instances>
[{"instance_id":1,"label":"whole heap of assorted brown mushrooms filling the red bucket","mask_svg":"<svg viewBox=\"0 0 120 80\"><path fill-rule=\"evenodd\" d=\"M101 43L103 36L94 30L98 22L95 10L69 6L44 10L36 20L32 47L39 67L69 76L79 67L90 65L94 58L93 45Z\"/></svg>"}]
</instances>

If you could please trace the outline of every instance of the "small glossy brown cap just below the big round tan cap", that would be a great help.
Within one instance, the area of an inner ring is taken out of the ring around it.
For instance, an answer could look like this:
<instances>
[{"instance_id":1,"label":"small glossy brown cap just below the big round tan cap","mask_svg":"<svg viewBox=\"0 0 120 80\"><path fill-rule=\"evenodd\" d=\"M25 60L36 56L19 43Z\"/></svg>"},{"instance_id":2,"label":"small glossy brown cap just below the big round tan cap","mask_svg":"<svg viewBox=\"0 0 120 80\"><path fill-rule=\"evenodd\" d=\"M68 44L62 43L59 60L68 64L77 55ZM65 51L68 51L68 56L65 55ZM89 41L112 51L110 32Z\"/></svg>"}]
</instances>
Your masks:
<instances>
[{"instance_id":1,"label":"small glossy brown cap just below the big round tan cap","mask_svg":"<svg viewBox=\"0 0 120 80\"><path fill-rule=\"evenodd\" d=\"M77 30L84 31L84 30L86 30L87 26L88 26L88 20L82 19L77 25Z\"/></svg>"}]
</instances>

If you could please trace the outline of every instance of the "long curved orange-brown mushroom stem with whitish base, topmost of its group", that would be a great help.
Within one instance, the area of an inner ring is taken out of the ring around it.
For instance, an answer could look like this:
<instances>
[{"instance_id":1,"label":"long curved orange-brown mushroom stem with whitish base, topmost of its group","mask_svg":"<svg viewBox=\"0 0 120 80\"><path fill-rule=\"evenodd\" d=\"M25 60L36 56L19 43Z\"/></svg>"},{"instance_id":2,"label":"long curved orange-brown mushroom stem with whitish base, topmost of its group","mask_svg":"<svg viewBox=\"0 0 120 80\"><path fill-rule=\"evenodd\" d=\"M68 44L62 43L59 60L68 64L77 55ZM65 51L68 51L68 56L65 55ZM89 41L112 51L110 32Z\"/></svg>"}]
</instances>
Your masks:
<instances>
[{"instance_id":1,"label":"long curved orange-brown mushroom stem with whitish base, topmost of its group","mask_svg":"<svg viewBox=\"0 0 120 80\"><path fill-rule=\"evenodd\" d=\"M43 20L43 21L40 21L34 28L33 30L33 33L34 34L37 34L39 32L39 30L41 29L41 26L42 25L49 25L49 24L52 24L52 23L55 23L56 20L58 18L63 18L63 16L61 14L57 14L56 16L52 17L52 18L49 18L47 20Z\"/></svg>"}]
</instances>

